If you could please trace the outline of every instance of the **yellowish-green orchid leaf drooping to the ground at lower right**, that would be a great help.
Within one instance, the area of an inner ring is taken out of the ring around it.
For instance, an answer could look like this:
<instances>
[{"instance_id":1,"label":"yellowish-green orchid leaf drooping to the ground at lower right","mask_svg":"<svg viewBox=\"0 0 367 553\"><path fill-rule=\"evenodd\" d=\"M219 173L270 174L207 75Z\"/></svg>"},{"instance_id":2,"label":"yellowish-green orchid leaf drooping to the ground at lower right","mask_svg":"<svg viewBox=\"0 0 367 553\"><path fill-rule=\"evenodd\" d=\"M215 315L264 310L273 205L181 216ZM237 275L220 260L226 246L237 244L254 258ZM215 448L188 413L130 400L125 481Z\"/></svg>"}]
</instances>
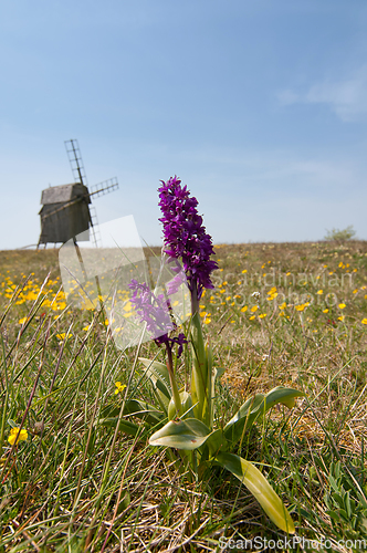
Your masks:
<instances>
[{"instance_id":1,"label":"yellowish-green orchid leaf drooping to the ground at lower right","mask_svg":"<svg viewBox=\"0 0 367 553\"><path fill-rule=\"evenodd\" d=\"M218 453L216 460L241 480L274 524L284 532L294 534L294 523L283 501L256 467L233 453Z\"/></svg>"}]
</instances>

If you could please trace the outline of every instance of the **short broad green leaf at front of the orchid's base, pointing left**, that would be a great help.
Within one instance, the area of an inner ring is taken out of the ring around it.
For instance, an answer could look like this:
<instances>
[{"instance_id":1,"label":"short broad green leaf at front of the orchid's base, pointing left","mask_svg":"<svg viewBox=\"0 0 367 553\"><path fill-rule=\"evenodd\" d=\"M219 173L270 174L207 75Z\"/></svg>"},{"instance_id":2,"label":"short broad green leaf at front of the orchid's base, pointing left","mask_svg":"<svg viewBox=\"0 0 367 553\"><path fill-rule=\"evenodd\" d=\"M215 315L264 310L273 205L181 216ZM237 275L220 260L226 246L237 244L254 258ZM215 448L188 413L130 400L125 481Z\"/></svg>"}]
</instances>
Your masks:
<instances>
[{"instance_id":1,"label":"short broad green leaf at front of the orchid's base, pointing left","mask_svg":"<svg viewBox=\"0 0 367 553\"><path fill-rule=\"evenodd\" d=\"M190 451L202 446L210 434L210 429L196 418L170 420L150 437L149 444Z\"/></svg>"}]
</instances>

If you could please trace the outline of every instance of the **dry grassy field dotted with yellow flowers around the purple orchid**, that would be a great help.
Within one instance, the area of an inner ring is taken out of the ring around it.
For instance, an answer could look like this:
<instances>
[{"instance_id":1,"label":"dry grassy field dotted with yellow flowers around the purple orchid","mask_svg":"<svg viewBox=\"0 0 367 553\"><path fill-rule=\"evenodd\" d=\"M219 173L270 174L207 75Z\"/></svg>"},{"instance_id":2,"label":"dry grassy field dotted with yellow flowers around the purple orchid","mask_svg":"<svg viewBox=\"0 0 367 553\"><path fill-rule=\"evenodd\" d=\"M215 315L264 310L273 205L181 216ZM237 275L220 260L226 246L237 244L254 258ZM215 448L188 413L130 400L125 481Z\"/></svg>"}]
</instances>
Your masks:
<instances>
[{"instance_id":1,"label":"dry grassy field dotted with yellow flowers around the purple orchid","mask_svg":"<svg viewBox=\"0 0 367 553\"><path fill-rule=\"evenodd\" d=\"M266 474L303 542L276 545L281 532L220 468L203 482L187 478L148 445L144 421L135 437L102 425L125 394L150 399L137 356L164 361L164 351L148 342L120 352L103 312L70 307L56 250L4 251L0 552L221 551L227 539L255 538L263 551L361 551L363 539L367 547L367 242L216 252L200 314L226 369L218 422L277 385L306 394L292 410L274 408L238 451ZM28 438L11 446L21 424Z\"/></svg>"}]
</instances>

